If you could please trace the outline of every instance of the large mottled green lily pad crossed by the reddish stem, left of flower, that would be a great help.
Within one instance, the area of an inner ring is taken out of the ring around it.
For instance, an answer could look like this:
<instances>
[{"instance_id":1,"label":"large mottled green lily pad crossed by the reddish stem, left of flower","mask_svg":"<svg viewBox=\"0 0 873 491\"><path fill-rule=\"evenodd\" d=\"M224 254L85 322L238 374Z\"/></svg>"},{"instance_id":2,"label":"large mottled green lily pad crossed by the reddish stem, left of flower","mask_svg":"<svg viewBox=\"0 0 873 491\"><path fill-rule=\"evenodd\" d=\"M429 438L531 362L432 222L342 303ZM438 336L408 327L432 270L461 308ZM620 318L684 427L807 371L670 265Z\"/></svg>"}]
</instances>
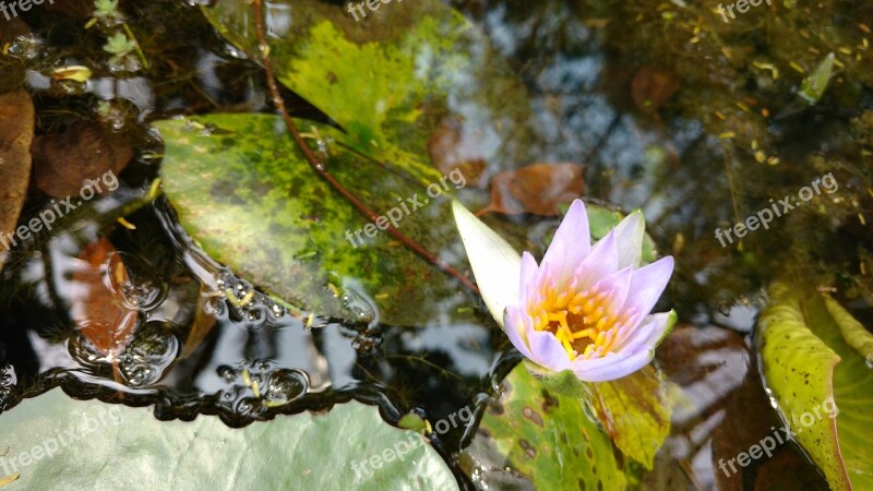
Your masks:
<instances>
[{"instance_id":1,"label":"large mottled green lily pad crossed by the reddish stem, left of flower","mask_svg":"<svg viewBox=\"0 0 873 491\"><path fill-rule=\"evenodd\" d=\"M322 135L333 132L298 124ZM351 321L367 320L347 308L350 299L362 298L378 308L382 322L404 325L444 319L439 312L470 301L459 282L368 223L319 178L279 117L208 115L155 127L166 143L164 191L186 231L267 292ZM359 154L328 152L331 172L356 183L358 197L378 213L396 211L405 235L433 252L459 247L449 200L430 197ZM457 185L438 182L441 193Z\"/></svg>"}]
</instances>

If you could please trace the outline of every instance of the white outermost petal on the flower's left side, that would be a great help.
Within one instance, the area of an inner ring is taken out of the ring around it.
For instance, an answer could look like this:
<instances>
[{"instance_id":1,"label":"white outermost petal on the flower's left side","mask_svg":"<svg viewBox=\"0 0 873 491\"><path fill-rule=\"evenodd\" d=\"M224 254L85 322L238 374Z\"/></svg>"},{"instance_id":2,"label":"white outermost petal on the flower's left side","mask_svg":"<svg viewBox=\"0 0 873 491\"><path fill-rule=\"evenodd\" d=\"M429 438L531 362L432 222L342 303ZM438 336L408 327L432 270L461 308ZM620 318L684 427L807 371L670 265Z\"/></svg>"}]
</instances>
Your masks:
<instances>
[{"instance_id":1,"label":"white outermost petal on the flower's left side","mask_svg":"<svg viewBox=\"0 0 873 491\"><path fill-rule=\"evenodd\" d=\"M482 300L503 327L506 307L518 304L522 256L457 200L452 201L452 211Z\"/></svg>"}]
</instances>

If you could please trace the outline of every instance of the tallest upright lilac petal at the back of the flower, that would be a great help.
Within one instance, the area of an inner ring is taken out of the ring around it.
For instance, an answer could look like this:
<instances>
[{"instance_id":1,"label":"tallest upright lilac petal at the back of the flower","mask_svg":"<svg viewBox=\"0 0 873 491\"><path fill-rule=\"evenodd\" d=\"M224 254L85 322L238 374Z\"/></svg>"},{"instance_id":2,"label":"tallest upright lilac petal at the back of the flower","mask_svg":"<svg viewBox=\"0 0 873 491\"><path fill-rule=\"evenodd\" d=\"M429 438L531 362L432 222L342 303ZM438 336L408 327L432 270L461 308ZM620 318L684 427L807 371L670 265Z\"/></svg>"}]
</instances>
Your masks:
<instances>
[{"instance_id":1,"label":"tallest upright lilac petal at the back of the flower","mask_svg":"<svg viewBox=\"0 0 873 491\"><path fill-rule=\"evenodd\" d=\"M561 278L558 283L563 283L573 272L582 260L591 250L591 235L588 229L588 214L585 212L585 204L582 200L574 200L570 209L564 215L564 219L554 232L554 238L546 255L543 263L549 263L554 267L566 267L560 272ZM559 273L555 271L555 273Z\"/></svg>"}]
</instances>

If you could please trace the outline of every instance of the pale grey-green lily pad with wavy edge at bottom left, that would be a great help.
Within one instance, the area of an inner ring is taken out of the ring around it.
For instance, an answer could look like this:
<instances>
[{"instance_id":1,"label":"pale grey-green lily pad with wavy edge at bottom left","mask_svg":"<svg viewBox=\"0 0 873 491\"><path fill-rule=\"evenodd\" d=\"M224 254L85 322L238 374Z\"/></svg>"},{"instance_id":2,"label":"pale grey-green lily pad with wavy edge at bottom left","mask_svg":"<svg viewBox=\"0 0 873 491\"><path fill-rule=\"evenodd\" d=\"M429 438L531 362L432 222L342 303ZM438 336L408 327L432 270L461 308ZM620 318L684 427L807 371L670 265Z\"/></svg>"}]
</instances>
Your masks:
<instances>
[{"instance_id":1,"label":"pale grey-green lily pad with wavy edge at bottom left","mask_svg":"<svg viewBox=\"0 0 873 491\"><path fill-rule=\"evenodd\" d=\"M419 434L356 402L231 429L204 416L162 422L148 408L56 388L0 415L0 481L19 475L10 491L458 489Z\"/></svg>"}]
</instances>

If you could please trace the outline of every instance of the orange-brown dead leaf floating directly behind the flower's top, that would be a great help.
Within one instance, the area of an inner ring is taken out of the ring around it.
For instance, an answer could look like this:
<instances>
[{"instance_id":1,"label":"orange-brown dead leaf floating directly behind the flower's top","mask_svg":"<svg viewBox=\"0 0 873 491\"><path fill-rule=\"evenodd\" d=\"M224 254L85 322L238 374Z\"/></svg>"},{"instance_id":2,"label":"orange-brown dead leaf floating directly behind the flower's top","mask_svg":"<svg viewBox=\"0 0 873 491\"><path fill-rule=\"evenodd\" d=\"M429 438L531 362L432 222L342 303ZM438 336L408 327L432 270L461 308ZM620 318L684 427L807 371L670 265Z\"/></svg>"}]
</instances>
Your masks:
<instances>
[{"instance_id":1,"label":"orange-brown dead leaf floating directly behind the flower's top","mask_svg":"<svg viewBox=\"0 0 873 491\"><path fill-rule=\"evenodd\" d=\"M491 178L491 203L476 215L488 212L558 215L559 204L582 195L583 169L578 164L534 164L499 172Z\"/></svg>"}]
</instances>

